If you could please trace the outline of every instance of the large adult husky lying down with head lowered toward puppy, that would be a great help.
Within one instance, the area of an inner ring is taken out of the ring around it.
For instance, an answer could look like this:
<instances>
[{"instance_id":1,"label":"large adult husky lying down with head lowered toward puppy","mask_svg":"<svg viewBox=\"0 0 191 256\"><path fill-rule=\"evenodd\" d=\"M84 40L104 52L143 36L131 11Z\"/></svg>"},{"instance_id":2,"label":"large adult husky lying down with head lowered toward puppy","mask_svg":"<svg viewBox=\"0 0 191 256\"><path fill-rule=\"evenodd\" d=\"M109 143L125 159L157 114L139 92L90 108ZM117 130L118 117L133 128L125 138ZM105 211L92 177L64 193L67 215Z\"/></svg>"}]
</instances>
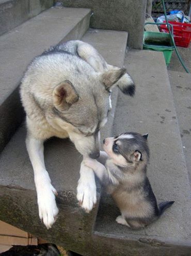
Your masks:
<instances>
[{"instance_id":1,"label":"large adult husky lying down with head lowered toward puppy","mask_svg":"<svg viewBox=\"0 0 191 256\"><path fill-rule=\"evenodd\" d=\"M69 137L86 158L100 155L100 129L107 122L110 91L133 95L135 86L124 68L108 65L83 41L68 41L37 56L21 83L26 111L26 147L34 169L39 217L47 228L58 214L56 189L44 165L43 141ZM90 211L96 203L93 170L81 165L77 199Z\"/></svg>"}]
</instances>

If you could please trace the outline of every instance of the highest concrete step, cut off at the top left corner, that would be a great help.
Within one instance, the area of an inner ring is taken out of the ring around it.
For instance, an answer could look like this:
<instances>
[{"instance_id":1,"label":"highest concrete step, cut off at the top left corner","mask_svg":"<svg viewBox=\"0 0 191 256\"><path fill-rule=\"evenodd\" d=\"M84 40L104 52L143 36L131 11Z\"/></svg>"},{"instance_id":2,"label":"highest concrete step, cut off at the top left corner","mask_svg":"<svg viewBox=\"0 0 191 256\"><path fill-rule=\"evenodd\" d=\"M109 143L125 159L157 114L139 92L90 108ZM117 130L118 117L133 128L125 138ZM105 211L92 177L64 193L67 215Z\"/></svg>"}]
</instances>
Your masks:
<instances>
[{"instance_id":1,"label":"highest concrete step, cut off at the top left corner","mask_svg":"<svg viewBox=\"0 0 191 256\"><path fill-rule=\"evenodd\" d=\"M53 6L53 3L53 0L1 0L0 35L37 16L41 11Z\"/></svg>"}]
</instances>

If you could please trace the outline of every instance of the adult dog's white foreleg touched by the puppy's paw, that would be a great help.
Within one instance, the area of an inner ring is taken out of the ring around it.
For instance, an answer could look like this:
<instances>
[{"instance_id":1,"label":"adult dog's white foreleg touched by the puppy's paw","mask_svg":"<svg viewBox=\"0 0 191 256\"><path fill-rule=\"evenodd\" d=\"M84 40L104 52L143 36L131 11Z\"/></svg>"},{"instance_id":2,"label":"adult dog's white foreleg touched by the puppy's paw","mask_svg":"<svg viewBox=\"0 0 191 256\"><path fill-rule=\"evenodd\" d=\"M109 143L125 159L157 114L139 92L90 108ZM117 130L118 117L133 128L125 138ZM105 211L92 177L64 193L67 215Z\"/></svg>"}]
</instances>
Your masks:
<instances>
[{"instance_id":1,"label":"adult dog's white foreleg touched by the puppy's paw","mask_svg":"<svg viewBox=\"0 0 191 256\"><path fill-rule=\"evenodd\" d=\"M96 184L93 170L81 163L80 178L77 185L77 200L79 205L89 212L96 203Z\"/></svg>"}]
</instances>

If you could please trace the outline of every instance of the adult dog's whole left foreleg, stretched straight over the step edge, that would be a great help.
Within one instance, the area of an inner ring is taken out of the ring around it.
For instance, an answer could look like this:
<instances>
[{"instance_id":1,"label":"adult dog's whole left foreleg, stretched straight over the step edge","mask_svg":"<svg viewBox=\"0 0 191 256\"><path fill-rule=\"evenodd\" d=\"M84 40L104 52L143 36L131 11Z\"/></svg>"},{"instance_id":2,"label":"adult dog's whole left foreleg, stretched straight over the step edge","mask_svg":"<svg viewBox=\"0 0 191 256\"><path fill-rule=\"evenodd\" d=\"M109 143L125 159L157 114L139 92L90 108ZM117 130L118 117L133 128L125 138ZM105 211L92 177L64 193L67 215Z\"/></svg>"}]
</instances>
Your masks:
<instances>
[{"instance_id":1,"label":"adult dog's whole left foreleg, stretched straight over the step edge","mask_svg":"<svg viewBox=\"0 0 191 256\"><path fill-rule=\"evenodd\" d=\"M34 169L35 186L37 190L39 217L49 229L58 214L55 195L57 192L51 184L51 179L44 165L43 140L30 135L26 138L26 147Z\"/></svg>"}]
</instances>

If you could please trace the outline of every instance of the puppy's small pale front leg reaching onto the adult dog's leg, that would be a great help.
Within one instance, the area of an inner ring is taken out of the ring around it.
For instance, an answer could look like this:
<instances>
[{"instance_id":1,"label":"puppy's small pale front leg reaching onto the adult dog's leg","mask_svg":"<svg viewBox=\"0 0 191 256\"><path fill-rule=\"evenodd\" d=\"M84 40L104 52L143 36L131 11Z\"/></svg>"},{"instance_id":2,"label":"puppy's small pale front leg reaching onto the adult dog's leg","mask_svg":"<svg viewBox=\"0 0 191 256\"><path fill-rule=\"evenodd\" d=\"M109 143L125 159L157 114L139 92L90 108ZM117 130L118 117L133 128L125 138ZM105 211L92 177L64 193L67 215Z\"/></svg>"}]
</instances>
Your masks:
<instances>
[{"instance_id":1,"label":"puppy's small pale front leg reaching onto the adult dog's leg","mask_svg":"<svg viewBox=\"0 0 191 256\"><path fill-rule=\"evenodd\" d=\"M104 184L104 186L108 186L108 184L110 183L109 175L108 175L107 169L103 164L91 158L85 159L84 163L86 166L90 167L93 170L95 175L99 178L101 183Z\"/></svg>"}]
</instances>

